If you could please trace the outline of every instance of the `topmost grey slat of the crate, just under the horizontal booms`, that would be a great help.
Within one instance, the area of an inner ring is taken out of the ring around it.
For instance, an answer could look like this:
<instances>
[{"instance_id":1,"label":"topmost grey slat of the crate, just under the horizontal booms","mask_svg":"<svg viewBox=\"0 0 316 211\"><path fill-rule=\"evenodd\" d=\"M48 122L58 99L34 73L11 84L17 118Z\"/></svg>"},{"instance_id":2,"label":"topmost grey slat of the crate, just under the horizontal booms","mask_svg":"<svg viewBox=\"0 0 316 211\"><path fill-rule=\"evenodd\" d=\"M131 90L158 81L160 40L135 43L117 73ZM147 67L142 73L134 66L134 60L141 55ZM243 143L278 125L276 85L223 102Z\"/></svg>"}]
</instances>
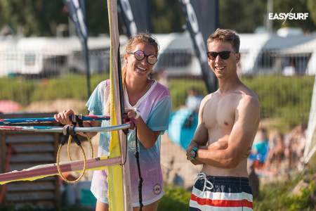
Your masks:
<instances>
[{"instance_id":1,"label":"topmost grey slat of the crate, just under the horizontal booms","mask_svg":"<svg viewBox=\"0 0 316 211\"><path fill-rule=\"evenodd\" d=\"M7 134L6 143L53 143L53 134Z\"/></svg>"}]
</instances>

